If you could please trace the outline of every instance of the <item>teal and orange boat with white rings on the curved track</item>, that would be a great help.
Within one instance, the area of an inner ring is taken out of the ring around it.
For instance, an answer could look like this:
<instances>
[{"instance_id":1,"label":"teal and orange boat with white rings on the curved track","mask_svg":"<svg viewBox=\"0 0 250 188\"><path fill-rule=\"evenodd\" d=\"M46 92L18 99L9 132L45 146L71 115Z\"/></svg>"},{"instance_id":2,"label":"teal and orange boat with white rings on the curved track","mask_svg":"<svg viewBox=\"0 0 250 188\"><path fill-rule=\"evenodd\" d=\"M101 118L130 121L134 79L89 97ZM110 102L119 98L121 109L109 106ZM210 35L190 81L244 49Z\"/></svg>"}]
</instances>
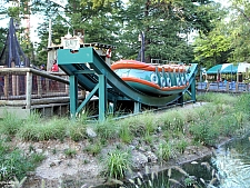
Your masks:
<instances>
[{"instance_id":1,"label":"teal and orange boat with white rings on the curved track","mask_svg":"<svg viewBox=\"0 0 250 188\"><path fill-rule=\"evenodd\" d=\"M119 60L111 69L132 88L151 96L180 93L189 86L189 66Z\"/></svg>"}]
</instances>

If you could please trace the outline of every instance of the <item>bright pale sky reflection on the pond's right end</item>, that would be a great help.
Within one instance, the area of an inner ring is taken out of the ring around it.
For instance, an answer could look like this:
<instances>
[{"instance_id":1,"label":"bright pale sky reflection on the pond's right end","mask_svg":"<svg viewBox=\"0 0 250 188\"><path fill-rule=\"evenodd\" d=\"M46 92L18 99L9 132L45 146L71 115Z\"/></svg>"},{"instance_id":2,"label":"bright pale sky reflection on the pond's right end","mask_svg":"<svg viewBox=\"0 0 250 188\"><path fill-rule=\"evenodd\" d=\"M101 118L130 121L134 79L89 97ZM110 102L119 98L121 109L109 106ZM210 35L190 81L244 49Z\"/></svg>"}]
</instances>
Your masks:
<instances>
[{"instance_id":1,"label":"bright pale sky reflection on the pond's right end","mask_svg":"<svg viewBox=\"0 0 250 188\"><path fill-rule=\"evenodd\" d=\"M218 149L212 161L218 169L220 188L250 187L249 136L241 140L233 140Z\"/></svg>"}]
</instances>

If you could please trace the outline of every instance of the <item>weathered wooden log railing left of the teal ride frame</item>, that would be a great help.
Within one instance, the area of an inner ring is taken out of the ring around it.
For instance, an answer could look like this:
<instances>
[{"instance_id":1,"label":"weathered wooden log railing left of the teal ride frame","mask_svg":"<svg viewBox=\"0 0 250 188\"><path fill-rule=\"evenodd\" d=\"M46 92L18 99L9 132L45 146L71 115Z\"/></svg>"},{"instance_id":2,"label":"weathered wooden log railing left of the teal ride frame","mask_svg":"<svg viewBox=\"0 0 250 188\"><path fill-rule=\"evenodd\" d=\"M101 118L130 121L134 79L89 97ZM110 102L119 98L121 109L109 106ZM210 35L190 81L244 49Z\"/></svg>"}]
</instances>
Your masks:
<instances>
[{"instance_id":1,"label":"weathered wooden log railing left of the teal ride frame","mask_svg":"<svg viewBox=\"0 0 250 188\"><path fill-rule=\"evenodd\" d=\"M54 90L56 86L57 90ZM33 68L0 68L0 105L24 106L69 100L69 80L63 72ZM53 98L52 98L53 97Z\"/></svg>"}]
</instances>

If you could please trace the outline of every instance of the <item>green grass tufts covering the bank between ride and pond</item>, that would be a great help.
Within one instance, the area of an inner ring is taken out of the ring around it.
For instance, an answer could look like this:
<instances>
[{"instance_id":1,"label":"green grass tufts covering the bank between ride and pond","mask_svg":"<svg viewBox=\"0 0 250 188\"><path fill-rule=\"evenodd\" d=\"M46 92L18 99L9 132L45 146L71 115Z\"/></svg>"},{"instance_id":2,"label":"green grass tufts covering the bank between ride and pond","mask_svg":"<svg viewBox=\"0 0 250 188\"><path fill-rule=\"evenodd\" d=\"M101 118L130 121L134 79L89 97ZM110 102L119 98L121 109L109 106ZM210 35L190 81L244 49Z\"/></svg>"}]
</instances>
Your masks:
<instances>
[{"instance_id":1,"label":"green grass tufts covering the bank between ride and pond","mask_svg":"<svg viewBox=\"0 0 250 188\"><path fill-rule=\"evenodd\" d=\"M33 169L36 165L44 159L41 154L33 152L33 146L29 148L29 155L8 147L8 142L13 138L21 141L46 141L46 140L71 140L74 142L86 141L81 152L94 156L103 166L107 178L123 179L128 169L133 168L129 147L140 152L152 151L158 156L158 161L166 161L178 158L186 151L186 148L196 144L197 146L213 146L219 138L236 136L248 129L250 119L250 95L230 96L227 93L206 93L197 97L198 101L208 103L198 108L176 108L167 110L156 116L153 112L146 112L139 116L114 120L108 117L103 122L88 122L88 111L81 112L77 121L68 118L40 118L38 113L32 113L27 120L20 120L14 115L6 112L4 119L0 120L0 152L3 164L1 177L13 179L13 174L9 174L11 164L21 162L18 167L18 179L24 178L24 171ZM97 133L94 138L88 136L87 128ZM110 151L110 148L120 147ZM123 147L126 146L126 147ZM104 151L109 150L103 158ZM142 151L141 151L142 150ZM51 151L57 155L54 148ZM34 154L31 156L31 154ZM36 156L37 155L37 156ZM64 155L73 157L74 149L64 150ZM8 169L8 174L6 172ZM7 176L8 175L8 176ZM173 181L168 179L168 184ZM187 179L187 182L189 179Z\"/></svg>"}]
</instances>

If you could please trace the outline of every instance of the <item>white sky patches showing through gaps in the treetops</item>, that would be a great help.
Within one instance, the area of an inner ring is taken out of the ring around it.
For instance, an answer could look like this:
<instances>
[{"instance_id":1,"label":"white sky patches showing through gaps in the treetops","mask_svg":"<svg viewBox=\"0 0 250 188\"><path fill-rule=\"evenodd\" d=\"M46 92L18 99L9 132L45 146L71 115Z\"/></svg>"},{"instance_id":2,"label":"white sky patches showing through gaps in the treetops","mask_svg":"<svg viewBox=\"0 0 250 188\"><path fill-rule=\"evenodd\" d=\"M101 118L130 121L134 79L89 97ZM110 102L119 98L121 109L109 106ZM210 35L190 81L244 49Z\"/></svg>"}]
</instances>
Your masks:
<instances>
[{"instance_id":1,"label":"white sky patches showing through gaps in the treetops","mask_svg":"<svg viewBox=\"0 0 250 188\"><path fill-rule=\"evenodd\" d=\"M51 0L58 4L64 6L67 0ZM123 0L127 2L128 0ZM220 2L223 7L228 7L228 0L214 0L216 2ZM0 0L0 7L8 7L10 3L4 2L4 0ZM32 42L39 42L39 38L37 34L37 28L39 23L42 22L42 17L41 16L31 16L30 18L30 39ZM0 27L7 28L9 23L9 18L4 18L4 16L0 14ZM22 23L26 26L26 22ZM6 26L6 27L4 27Z\"/></svg>"}]
</instances>

